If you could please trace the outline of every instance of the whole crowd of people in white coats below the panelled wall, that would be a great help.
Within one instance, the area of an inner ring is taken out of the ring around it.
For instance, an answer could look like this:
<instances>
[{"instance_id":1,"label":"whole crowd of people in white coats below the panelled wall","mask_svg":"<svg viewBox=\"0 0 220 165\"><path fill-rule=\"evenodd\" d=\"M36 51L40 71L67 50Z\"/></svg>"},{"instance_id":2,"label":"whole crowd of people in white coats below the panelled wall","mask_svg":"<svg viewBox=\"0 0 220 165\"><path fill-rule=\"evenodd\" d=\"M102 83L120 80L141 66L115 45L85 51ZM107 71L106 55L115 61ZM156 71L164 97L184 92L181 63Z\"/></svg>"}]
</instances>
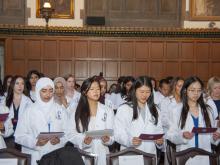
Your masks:
<instances>
[{"instance_id":1,"label":"whole crowd of people in white coats below the panelled wall","mask_svg":"<svg viewBox=\"0 0 220 165\"><path fill-rule=\"evenodd\" d=\"M177 151L194 147L211 152L212 144L219 145L220 130L199 134L192 129L219 127L220 78L211 77L207 87L196 76L158 82L157 88L153 77L123 76L108 88L102 74L81 86L71 74L54 79L37 70L26 78L7 75L0 83L0 149L30 154L32 165L67 142L97 155L97 165L106 164L107 154L128 147L168 164L166 140ZM105 129L113 134L96 138L88 134ZM41 132L64 134L38 138ZM141 134L162 136L146 140ZM191 164L209 164L207 157L199 161L192 159Z\"/></svg>"}]
</instances>

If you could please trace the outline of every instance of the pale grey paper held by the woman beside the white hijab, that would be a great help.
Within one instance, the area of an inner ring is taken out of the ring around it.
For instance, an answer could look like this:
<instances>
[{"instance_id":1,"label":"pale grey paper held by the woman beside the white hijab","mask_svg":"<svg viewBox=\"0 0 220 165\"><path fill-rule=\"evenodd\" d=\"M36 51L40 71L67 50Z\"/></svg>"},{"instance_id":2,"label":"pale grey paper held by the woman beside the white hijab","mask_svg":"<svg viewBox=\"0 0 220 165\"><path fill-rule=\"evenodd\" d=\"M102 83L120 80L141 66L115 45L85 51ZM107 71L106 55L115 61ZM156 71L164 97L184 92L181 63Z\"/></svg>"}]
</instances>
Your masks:
<instances>
[{"instance_id":1,"label":"pale grey paper held by the woman beside the white hijab","mask_svg":"<svg viewBox=\"0 0 220 165\"><path fill-rule=\"evenodd\" d=\"M114 131L112 129L103 129L103 130L88 131L85 134L86 136L92 138L101 138L102 136L113 136Z\"/></svg>"}]
</instances>

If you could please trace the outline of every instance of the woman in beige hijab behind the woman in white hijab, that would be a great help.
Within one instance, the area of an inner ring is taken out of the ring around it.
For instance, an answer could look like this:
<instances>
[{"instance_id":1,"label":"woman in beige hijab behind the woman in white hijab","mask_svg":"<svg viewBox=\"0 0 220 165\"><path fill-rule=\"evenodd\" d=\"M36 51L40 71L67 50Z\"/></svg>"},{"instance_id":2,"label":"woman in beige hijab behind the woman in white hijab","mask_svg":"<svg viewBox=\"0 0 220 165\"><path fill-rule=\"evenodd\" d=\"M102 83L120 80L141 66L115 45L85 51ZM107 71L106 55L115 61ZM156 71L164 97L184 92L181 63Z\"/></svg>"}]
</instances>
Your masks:
<instances>
[{"instance_id":1,"label":"woman in beige hijab behind the woman in white hijab","mask_svg":"<svg viewBox=\"0 0 220 165\"><path fill-rule=\"evenodd\" d=\"M55 85L54 101L66 109L68 107L66 99L66 80L63 77L56 77L53 82Z\"/></svg>"}]
</instances>

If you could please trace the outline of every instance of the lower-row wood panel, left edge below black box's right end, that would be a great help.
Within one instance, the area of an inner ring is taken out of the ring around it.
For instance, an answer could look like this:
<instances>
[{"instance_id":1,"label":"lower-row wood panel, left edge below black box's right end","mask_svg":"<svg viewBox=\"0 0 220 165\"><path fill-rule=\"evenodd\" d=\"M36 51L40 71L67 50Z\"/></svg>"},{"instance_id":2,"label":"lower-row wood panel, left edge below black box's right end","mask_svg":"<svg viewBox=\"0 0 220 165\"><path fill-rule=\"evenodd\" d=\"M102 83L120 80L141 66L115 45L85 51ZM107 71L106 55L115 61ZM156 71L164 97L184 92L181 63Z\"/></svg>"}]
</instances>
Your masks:
<instances>
[{"instance_id":1,"label":"lower-row wood panel, left edge below black box's right end","mask_svg":"<svg viewBox=\"0 0 220 165\"><path fill-rule=\"evenodd\" d=\"M108 79L117 79L118 77L118 61L105 61L105 76Z\"/></svg>"}]
</instances>

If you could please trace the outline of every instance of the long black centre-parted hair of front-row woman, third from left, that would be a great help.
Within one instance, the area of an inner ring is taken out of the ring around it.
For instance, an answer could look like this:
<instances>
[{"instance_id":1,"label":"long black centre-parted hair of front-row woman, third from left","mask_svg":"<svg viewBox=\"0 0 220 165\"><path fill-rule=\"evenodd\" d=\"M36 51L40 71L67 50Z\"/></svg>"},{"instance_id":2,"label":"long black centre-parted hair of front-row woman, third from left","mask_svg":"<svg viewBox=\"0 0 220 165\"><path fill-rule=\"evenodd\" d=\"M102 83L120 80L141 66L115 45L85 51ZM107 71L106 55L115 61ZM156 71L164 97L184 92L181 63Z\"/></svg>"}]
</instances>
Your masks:
<instances>
[{"instance_id":1,"label":"long black centre-parted hair of front-row woman, third from left","mask_svg":"<svg viewBox=\"0 0 220 165\"><path fill-rule=\"evenodd\" d=\"M147 105L149 107L151 115L154 118L154 121L155 121L154 124L157 125L159 115L158 115L156 105L154 104L153 87L151 83L151 78L147 76L138 77L132 86L130 103L132 104L132 107L133 107L133 120L138 118L138 100L136 97L136 90L142 86L147 86L150 88L151 94L149 98L147 99Z\"/></svg>"}]
</instances>

